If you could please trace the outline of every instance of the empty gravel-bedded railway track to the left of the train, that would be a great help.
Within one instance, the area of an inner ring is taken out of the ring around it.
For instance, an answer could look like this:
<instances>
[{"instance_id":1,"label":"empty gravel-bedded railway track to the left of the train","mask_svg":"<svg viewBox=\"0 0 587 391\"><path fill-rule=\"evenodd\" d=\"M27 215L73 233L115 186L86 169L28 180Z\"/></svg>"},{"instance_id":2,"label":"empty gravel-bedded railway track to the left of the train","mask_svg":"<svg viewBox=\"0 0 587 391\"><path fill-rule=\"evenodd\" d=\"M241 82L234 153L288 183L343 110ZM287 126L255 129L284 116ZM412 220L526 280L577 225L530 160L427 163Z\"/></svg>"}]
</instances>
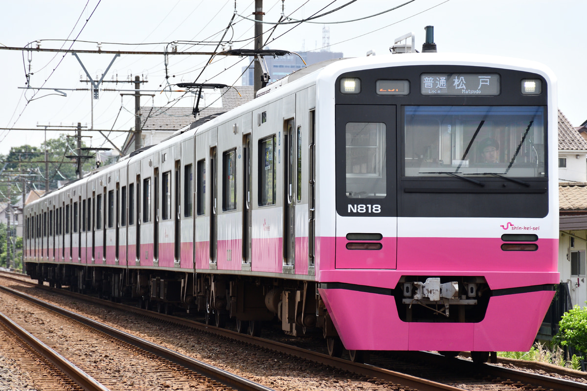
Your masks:
<instances>
[{"instance_id":1,"label":"empty gravel-bedded railway track to the left of the train","mask_svg":"<svg viewBox=\"0 0 587 391\"><path fill-rule=\"evenodd\" d=\"M272 391L269 387L195 361L48 302L6 287L2 287L2 291L42 307L33 310L35 316L31 321L23 319L21 322L39 335L39 339L46 341L46 345L53 345L62 355L68 356L69 361L79 362L78 365L89 373L86 375L80 370L76 372L75 366L63 361L55 364L81 389L167 389L173 385L175 389L191 390ZM30 314L31 310L28 311ZM73 322L63 322L63 318ZM45 349L43 355L48 356L46 352L51 350ZM53 353L53 356L59 354ZM92 378L99 379L104 385Z\"/></svg>"}]
</instances>

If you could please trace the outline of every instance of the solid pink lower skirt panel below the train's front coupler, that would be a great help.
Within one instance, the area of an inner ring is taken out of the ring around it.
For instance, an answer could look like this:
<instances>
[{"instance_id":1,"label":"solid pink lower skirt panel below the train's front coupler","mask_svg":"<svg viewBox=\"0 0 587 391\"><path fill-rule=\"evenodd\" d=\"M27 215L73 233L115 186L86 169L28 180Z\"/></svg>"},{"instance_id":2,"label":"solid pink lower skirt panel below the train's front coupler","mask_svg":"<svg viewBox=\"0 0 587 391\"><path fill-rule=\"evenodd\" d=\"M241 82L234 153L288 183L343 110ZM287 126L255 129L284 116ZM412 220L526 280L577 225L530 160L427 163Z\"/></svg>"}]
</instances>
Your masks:
<instances>
[{"instance_id":1,"label":"solid pink lower skirt panel below the train's front coupler","mask_svg":"<svg viewBox=\"0 0 587 391\"><path fill-rule=\"evenodd\" d=\"M554 291L491 297L477 323L404 322L392 295L319 289L346 349L528 351Z\"/></svg>"}]
</instances>

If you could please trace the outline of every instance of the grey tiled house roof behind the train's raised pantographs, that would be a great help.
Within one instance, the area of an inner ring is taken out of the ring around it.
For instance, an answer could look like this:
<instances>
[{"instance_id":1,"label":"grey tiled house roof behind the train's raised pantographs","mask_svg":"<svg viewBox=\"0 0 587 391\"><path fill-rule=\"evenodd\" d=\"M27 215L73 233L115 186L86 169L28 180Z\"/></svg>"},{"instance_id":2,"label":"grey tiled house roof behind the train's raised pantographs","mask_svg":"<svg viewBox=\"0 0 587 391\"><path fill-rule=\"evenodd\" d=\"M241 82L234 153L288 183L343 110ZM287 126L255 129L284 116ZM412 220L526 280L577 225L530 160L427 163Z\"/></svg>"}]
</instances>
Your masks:
<instances>
[{"instance_id":1,"label":"grey tiled house roof behind the train's raised pantographs","mask_svg":"<svg viewBox=\"0 0 587 391\"><path fill-rule=\"evenodd\" d=\"M197 119L207 117L208 115L224 113L232 110L241 104L247 103L253 99L254 87L242 86L235 87L238 89L221 90L221 97L211 103L209 107L204 107L204 101L200 101L200 113ZM239 96L240 94L240 96ZM203 93L205 96L205 92ZM176 131L183 128L185 125L193 123L194 118L193 107L147 107L141 108L141 115L143 124L141 130L167 130Z\"/></svg>"}]
</instances>

